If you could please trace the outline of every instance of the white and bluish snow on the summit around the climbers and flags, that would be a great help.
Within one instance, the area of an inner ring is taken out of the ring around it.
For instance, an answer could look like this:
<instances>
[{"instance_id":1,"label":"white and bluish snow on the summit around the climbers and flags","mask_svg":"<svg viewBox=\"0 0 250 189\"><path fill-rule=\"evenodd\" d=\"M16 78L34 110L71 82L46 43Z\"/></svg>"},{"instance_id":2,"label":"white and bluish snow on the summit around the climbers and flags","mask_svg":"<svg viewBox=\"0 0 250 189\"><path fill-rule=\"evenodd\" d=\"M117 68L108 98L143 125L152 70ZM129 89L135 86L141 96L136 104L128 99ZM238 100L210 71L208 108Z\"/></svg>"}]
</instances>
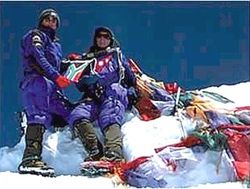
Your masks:
<instances>
[{"instance_id":1,"label":"white and bluish snow on the summit around the climbers and flags","mask_svg":"<svg viewBox=\"0 0 250 189\"><path fill-rule=\"evenodd\" d=\"M209 87L205 90L221 94L234 101L229 107L250 105L250 82L235 85L222 85L219 87ZM219 106L219 104L218 104ZM227 107L228 108L228 107ZM124 135L124 154L127 160L133 160L140 156L151 156L157 162L157 155L154 149L179 142L183 137L180 121L174 116L161 116L160 118L148 122L141 121L132 113L127 114L127 122L122 127ZM183 121L185 131L188 133L194 129L194 124L186 119ZM96 129L101 140L100 130ZM0 183L1 187L14 188L125 188L124 185L116 186L114 180L109 178L86 178L80 175L79 165L83 161L86 153L78 138L73 138L68 128L62 131L49 132L44 136L43 159L48 165L55 169L56 178L45 178L34 175L20 175L17 167L21 161L24 150L24 137L13 148L0 148ZM197 149L199 150L199 149ZM185 151L185 150L184 150ZM183 151L183 152L184 152ZM166 151L165 151L166 152ZM186 150L185 155L188 161L184 169L179 169L175 174L164 173L158 164L159 177L166 179L169 187L189 187L189 188L247 188L246 184L233 182L234 172L229 161L223 152L207 151L198 152L195 157L191 157ZM222 162L218 166L219 156L222 155ZM152 164L146 165L150 170ZM155 166L155 165L154 165ZM27 184L28 183L28 184ZM39 183L39 184L38 184ZM127 186L126 186L127 187ZM133 187L131 187L133 188Z\"/></svg>"}]
</instances>

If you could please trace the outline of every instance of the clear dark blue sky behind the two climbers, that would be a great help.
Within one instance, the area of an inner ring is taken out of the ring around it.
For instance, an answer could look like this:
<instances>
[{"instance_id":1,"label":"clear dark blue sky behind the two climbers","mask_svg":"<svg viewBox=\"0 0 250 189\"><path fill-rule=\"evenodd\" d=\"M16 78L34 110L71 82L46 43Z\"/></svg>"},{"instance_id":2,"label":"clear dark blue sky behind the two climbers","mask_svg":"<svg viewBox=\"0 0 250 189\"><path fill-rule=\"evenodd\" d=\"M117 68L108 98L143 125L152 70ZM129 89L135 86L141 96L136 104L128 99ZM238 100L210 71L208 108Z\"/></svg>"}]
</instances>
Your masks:
<instances>
[{"instance_id":1,"label":"clear dark blue sky behind the two climbers","mask_svg":"<svg viewBox=\"0 0 250 189\"><path fill-rule=\"evenodd\" d=\"M87 50L105 25L157 80L186 89L249 80L249 2L0 2L0 146L19 140L20 40L44 8L61 16L64 56ZM78 99L73 87L66 92Z\"/></svg>"}]
</instances>

